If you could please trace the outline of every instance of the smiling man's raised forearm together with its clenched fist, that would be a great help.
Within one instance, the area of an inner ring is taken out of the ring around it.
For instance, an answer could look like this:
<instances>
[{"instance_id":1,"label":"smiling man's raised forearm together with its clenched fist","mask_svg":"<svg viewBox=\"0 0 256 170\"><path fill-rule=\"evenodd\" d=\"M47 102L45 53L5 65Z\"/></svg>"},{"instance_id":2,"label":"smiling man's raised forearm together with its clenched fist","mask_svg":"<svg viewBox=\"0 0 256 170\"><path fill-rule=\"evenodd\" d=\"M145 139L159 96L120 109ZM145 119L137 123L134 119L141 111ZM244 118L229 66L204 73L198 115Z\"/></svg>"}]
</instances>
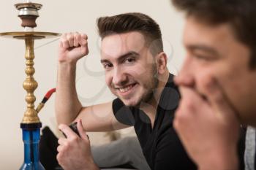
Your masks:
<instances>
[{"instance_id":1,"label":"smiling man's raised forearm together with its clenched fist","mask_svg":"<svg viewBox=\"0 0 256 170\"><path fill-rule=\"evenodd\" d=\"M75 90L75 70L77 61L88 53L86 34L61 36L55 105L58 123L71 123L82 109Z\"/></svg>"}]
</instances>

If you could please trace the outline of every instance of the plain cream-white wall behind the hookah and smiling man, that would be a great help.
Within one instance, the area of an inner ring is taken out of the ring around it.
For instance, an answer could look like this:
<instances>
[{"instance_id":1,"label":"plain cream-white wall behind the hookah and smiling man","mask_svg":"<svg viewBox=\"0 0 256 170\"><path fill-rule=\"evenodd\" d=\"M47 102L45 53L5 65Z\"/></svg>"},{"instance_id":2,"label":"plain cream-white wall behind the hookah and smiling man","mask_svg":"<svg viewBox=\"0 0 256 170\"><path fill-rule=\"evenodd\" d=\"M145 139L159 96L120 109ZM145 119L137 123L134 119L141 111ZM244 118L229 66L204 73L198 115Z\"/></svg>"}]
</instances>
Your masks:
<instances>
[{"instance_id":1,"label":"plain cream-white wall behind the hookah and smiling man","mask_svg":"<svg viewBox=\"0 0 256 170\"><path fill-rule=\"evenodd\" d=\"M1 0L0 32L23 31L20 27L18 11L13 6L19 0ZM90 54L78 63L78 93L83 104L97 104L113 98L104 81L104 73L99 63L99 36L96 18L123 12L143 12L157 20L162 28L166 53L170 56L168 66L177 73L184 56L181 32L184 19L175 11L169 0L37 0L43 4L39 11L36 31L64 33L80 31L88 34ZM35 47L53 39L39 40ZM23 142L19 128L23 112L25 90L24 42L0 37L0 169L18 169L23 163ZM35 79L39 87L35 91L36 105L45 92L56 85L56 58L58 41L35 50ZM174 49L174 50L172 50ZM95 73L97 72L97 74ZM98 93L104 89L104 93ZM54 96L50 98L39 117L43 125L56 129L53 108Z\"/></svg>"}]
</instances>

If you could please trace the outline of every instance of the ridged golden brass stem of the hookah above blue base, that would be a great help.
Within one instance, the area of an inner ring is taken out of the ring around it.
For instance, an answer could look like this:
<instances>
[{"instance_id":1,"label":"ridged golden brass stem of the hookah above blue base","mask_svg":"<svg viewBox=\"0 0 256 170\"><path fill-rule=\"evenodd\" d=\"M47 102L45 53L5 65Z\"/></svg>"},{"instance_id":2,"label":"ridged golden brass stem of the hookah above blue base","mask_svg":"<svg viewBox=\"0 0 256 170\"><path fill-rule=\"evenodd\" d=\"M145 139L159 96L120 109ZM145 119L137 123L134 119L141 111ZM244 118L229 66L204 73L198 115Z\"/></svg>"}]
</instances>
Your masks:
<instances>
[{"instance_id":1,"label":"ridged golden brass stem of the hookah above blue base","mask_svg":"<svg viewBox=\"0 0 256 170\"><path fill-rule=\"evenodd\" d=\"M34 96L34 90L37 89L37 81L34 80L34 39L32 36L28 36L25 39L26 43L26 80L23 82L23 88L26 90L26 103L27 109L23 116L22 123L39 123L39 117L37 116L37 111L34 109L34 101L36 97Z\"/></svg>"}]
</instances>

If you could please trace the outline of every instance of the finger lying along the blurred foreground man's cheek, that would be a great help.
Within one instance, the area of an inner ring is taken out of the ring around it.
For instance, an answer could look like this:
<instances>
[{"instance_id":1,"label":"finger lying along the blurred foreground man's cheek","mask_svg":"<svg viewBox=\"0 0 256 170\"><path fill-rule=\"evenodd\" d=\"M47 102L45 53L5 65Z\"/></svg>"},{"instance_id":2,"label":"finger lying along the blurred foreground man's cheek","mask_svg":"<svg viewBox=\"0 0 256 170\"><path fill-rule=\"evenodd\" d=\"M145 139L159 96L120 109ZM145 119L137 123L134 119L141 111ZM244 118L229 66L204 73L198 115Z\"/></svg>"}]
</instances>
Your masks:
<instances>
[{"instance_id":1,"label":"finger lying along the blurred foreground man's cheek","mask_svg":"<svg viewBox=\"0 0 256 170\"><path fill-rule=\"evenodd\" d=\"M203 91L206 93L212 107L217 109L217 113L225 113L221 115L222 117L224 116L230 119L230 117L234 117L234 113L238 117L238 112L225 96L222 87L214 77L206 77L203 80Z\"/></svg>"}]
</instances>

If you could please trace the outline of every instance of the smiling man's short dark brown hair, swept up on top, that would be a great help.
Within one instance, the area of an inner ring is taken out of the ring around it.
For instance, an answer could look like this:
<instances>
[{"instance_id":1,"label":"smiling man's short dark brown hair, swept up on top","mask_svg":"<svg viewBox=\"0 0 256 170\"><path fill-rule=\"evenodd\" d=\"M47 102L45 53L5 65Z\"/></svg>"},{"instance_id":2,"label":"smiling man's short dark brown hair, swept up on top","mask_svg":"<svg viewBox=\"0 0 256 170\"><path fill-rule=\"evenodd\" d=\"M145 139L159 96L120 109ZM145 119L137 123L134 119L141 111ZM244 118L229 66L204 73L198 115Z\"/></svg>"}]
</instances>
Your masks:
<instances>
[{"instance_id":1,"label":"smiling man's short dark brown hair, swept up on top","mask_svg":"<svg viewBox=\"0 0 256 170\"><path fill-rule=\"evenodd\" d=\"M138 31L146 39L152 55L163 51L162 34L159 25L148 15L132 12L97 19L99 36L104 39L111 34Z\"/></svg>"}]
</instances>

